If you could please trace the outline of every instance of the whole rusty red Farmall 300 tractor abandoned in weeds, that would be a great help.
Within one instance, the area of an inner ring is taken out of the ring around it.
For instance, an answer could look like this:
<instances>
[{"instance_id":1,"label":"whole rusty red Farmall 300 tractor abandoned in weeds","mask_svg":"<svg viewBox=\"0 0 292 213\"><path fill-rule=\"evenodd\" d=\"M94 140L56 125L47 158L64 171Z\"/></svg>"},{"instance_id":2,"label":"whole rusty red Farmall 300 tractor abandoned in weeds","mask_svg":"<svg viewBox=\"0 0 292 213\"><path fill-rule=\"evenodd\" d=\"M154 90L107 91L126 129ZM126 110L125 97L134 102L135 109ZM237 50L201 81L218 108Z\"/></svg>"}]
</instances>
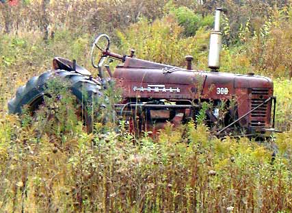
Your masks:
<instances>
[{"instance_id":1,"label":"whole rusty red Farmall 300 tractor abandoned in weeds","mask_svg":"<svg viewBox=\"0 0 292 213\"><path fill-rule=\"evenodd\" d=\"M192 57L186 56L187 68L159 64L119 55L109 51L109 36L98 36L92 45L92 65L98 68L98 77L76 61L64 58L53 59L53 69L32 77L25 86L16 91L16 97L8 103L9 112L21 114L28 105L31 112L44 101L45 87L52 77L70 82L70 92L80 102L90 102L103 97L103 87L114 82L122 100L112 105L119 118L127 121L130 131L141 133L163 128L167 123L174 126L204 115L205 123L216 136L263 136L274 131L276 98L273 82L268 77L220 73L220 13L215 12L215 26L211 32L209 68L211 71L194 71ZM101 48L101 40L107 45ZM94 51L101 51L96 63ZM105 59L119 60L122 64L111 72ZM105 78L107 71L109 77ZM86 98L85 98L86 97ZM104 97L103 97L104 98ZM202 110L204 110L202 112ZM271 113L274 110L274 113ZM93 122L88 118L85 124ZM236 133L235 133L236 132Z\"/></svg>"}]
</instances>

